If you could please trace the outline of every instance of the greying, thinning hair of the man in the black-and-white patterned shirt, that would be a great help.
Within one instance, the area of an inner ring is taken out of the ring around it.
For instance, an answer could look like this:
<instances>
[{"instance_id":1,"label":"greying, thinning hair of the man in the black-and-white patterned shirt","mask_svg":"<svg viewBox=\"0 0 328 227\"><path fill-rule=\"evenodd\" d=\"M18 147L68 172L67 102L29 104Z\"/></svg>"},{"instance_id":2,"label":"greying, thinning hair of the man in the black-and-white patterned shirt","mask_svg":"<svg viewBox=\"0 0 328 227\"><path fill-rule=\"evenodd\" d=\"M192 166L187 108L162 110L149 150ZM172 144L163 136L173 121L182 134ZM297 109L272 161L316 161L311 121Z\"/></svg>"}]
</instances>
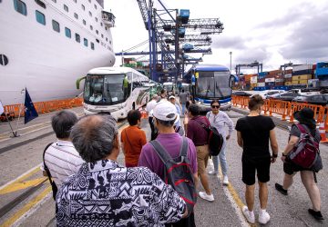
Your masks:
<instances>
[{"instance_id":1,"label":"greying, thinning hair of the man in the black-and-white patterned shirt","mask_svg":"<svg viewBox=\"0 0 328 227\"><path fill-rule=\"evenodd\" d=\"M95 163L112 153L117 135L117 123L111 115L94 114L81 118L73 126L71 139L81 158Z\"/></svg>"}]
</instances>

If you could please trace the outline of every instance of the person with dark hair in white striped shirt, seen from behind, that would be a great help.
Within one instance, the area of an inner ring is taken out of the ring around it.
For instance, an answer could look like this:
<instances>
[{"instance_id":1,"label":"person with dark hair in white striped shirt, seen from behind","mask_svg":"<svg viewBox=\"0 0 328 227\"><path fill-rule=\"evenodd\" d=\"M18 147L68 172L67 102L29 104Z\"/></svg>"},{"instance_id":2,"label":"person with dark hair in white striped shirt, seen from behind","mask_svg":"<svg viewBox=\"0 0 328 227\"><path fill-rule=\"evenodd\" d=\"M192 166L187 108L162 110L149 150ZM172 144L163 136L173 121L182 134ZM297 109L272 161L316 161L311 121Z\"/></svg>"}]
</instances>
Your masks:
<instances>
[{"instance_id":1,"label":"person with dark hair in white striped shirt, seen from behind","mask_svg":"<svg viewBox=\"0 0 328 227\"><path fill-rule=\"evenodd\" d=\"M84 163L69 137L71 128L76 123L77 114L67 110L60 111L51 118L57 141L46 146L41 169L49 178L54 199L57 189L69 175L77 173Z\"/></svg>"}]
</instances>

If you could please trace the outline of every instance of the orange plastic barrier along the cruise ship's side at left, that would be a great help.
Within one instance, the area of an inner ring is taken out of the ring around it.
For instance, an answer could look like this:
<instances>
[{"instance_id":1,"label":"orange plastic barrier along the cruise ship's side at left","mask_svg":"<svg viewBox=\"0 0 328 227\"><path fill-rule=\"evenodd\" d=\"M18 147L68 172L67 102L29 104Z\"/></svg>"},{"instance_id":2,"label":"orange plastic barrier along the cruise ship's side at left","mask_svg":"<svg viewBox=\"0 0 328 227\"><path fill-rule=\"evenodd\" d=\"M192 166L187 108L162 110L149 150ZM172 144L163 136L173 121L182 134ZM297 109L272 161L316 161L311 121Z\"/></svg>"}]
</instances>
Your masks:
<instances>
[{"instance_id":1,"label":"orange plastic barrier along the cruise ship's side at left","mask_svg":"<svg viewBox=\"0 0 328 227\"><path fill-rule=\"evenodd\" d=\"M36 102L33 103L36 107L37 114L46 114L52 111L69 109L72 107L81 106L83 103L82 98L73 98L73 99L63 99L63 100L51 100L46 102ZM21 116L24 116L25 106L24 104L11 104L5 105L5 113L13 114L15 117L19 115L19 107L21 108Z\"/></svg>"}]
</instances>

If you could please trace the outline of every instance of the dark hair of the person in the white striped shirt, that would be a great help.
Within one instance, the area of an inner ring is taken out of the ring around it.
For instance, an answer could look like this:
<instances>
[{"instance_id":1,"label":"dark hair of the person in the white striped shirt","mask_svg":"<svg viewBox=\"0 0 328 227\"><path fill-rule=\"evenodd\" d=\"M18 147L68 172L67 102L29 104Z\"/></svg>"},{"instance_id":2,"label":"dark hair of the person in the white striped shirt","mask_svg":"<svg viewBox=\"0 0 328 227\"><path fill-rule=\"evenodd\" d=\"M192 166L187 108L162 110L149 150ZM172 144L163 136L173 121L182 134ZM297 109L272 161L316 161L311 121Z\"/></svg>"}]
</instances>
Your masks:
<instances>
[{"instance_id":1,"label":"dark hair of the person in the white striped shirt","mask_svg":"<svg viewBox=\"0 0 328 227\"><path fill-rule=\"evenodd\" d=\"M74 124L77 123L77 114L71 111L61 111L51 118L51 125L58 139L67 139Z\"/></svg>"}]
</instances>

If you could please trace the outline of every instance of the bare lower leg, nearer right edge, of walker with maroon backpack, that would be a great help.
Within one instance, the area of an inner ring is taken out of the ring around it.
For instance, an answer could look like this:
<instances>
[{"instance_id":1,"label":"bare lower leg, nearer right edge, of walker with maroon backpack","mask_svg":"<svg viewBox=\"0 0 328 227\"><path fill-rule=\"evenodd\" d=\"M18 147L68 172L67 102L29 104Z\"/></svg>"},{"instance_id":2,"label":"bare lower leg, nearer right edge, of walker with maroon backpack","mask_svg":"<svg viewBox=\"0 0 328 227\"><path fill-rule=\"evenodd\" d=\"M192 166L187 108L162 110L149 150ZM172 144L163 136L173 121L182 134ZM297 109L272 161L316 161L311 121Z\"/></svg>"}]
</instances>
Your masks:
<instances>
[{"instance_id":1,"label":"bare lower leg, nearer right edge, of walker with maroon backpack","mask_svg":"<svg viewBox=\"0 0 328 227\"><path fill-rule=\"evenodd\" d=\"M301 171L301 179L306 188L306 191L309 194L310 200L313 203L313 210L315 212L319 212L321 208L320 191L314 182L313 172Z\"/></svg>"}]
</instances>

